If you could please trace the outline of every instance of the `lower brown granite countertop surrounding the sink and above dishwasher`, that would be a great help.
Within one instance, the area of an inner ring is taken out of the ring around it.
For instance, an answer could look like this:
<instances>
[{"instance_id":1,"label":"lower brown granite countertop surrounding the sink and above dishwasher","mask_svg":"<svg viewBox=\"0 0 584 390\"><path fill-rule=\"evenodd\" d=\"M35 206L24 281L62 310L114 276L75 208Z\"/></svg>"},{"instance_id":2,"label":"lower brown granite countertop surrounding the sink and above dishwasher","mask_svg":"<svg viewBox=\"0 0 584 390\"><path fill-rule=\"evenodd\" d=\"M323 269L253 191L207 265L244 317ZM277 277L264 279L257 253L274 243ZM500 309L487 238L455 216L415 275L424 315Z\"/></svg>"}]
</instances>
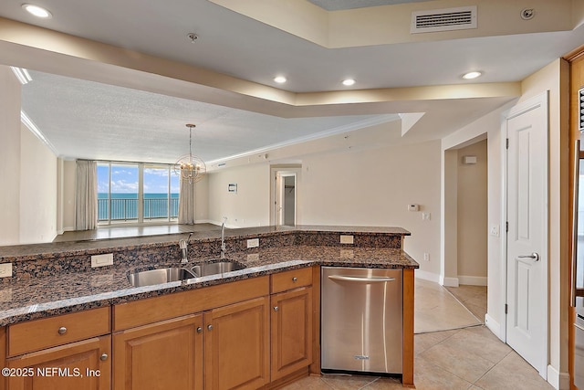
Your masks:
<instances>
[{"instance_id":1,"label":"lower brown granite countertop surrounding the sink and above dishwasher","mask_svg":"<svg viewBox=\"0 0 584 390\"><path fill-rule=\"evenodd\" d=\"M353 230L350 232L355 234ZM409 234L405 230L402 233ZM140 288L132 287L127 278L128 273L136 269L115 266L16 280L0 286L0 326L313 265L419 268L418 263L401 248L287 246L256 248L230 253L227 257L244 264L245 269ZM197 261L201 260L205 259ZM191 261L190 267L194 264L196 261ZM180 263L152 264L148 268L141 265L140 270L169 266L179 267Z\"/></svg>"}]
</instances>

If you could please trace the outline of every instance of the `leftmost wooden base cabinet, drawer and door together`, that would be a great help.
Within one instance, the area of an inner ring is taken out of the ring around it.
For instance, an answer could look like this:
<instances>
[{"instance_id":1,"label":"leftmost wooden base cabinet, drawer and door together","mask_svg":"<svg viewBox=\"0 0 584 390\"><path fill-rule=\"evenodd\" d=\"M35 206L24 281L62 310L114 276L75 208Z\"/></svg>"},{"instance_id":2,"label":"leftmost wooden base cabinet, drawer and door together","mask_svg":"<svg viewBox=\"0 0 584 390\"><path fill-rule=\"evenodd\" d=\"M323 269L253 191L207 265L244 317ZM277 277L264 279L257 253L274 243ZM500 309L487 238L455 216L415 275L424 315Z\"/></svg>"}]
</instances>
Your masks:
<instances>
[{"instance_id":1,"label":"leftmost wooden base cabinet, drawer and door together","mask_svg":"<svg viewBox=\"0 0 584 390\"><path fill-rule=\"evenodd\" d=\"M110 389L110 308L9 325L6 388Z\"/></svg>"}]
</instances>

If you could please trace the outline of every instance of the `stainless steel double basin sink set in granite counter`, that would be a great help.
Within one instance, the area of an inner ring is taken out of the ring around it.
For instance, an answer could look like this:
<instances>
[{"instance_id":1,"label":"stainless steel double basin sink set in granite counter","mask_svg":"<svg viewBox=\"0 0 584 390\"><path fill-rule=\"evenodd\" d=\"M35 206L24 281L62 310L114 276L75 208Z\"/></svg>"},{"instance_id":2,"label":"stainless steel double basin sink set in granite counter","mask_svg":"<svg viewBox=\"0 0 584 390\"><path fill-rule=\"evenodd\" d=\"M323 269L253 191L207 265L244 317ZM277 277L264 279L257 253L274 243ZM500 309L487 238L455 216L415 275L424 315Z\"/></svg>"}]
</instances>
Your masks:
<instances>
[{"instance_id":1,"label":"stainless steel double basin sink set in granite counter","mask_svg":"<svg viewBox=\"0 0 584 390\"><path fill-rule=\"evenodd\" d=\"M166 268L132 272L128 274L128 280L130 280L130 284L134 287L151 286L153 284L168 283L170 281L222 274L244 268L245 266L235 263L234 261L218 261L214 263L197 264L191 269Z\"/></svg>"}]
</instances>

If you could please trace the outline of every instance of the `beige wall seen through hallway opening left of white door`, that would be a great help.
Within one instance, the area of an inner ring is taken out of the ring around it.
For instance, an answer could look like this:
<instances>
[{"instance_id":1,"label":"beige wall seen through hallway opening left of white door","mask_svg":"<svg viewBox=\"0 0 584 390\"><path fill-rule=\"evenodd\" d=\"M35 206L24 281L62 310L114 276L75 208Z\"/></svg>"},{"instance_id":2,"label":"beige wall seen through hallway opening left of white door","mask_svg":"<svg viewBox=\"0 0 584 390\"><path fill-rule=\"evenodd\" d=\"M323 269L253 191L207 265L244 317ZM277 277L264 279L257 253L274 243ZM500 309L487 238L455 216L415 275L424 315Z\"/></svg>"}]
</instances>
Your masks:
<instances>
[{"instance_id":1,"label":"beige wall seen through hallway opening left of white door","mask_svg":"<svg viewBox=\"0 0 584 390\"><path fill-rule=\"evenodd\" d=\"M460 284L486 285L487 150L486 140L457 150L457 272ZM465 164L464 156L476 157Z\"/></svg>"}]
</instances>

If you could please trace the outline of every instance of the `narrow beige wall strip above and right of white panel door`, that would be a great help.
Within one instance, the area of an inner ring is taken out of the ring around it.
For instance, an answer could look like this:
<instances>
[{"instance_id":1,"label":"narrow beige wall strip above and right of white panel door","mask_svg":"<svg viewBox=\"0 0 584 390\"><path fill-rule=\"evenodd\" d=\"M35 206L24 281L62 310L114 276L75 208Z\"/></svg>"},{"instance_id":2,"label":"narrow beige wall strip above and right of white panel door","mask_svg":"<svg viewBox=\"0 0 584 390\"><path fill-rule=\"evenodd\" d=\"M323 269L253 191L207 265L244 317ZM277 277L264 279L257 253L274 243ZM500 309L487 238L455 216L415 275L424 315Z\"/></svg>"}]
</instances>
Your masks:
<instances>
[{"instance_id":1,"label":"narrow beige wall strip above and right of white panel door","mask_svg":"<svg viewBox=\"0 0 584 390\"><path fill-rule=\"evenodd\" d=\"M568 63L562 59L521 83L521 101L549 91L548 381L568 388ZM550 381L551 378L551 381Z\"/></svg>"}]
</instances>

